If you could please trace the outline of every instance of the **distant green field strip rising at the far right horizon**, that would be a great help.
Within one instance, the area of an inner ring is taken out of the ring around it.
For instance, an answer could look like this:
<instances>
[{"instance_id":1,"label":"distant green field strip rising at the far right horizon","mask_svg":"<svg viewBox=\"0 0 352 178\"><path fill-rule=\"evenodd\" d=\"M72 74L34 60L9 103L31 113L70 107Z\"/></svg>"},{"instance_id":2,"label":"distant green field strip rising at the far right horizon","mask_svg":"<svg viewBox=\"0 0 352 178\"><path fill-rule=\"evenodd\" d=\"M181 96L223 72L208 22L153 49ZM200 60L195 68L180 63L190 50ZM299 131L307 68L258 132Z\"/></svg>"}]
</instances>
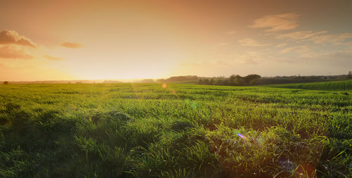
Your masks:
<instances>
[{"instance_id":1,"label":"distant green field strip rising at the far right horizon","mask_svg":"<svg viewBox=\"0 0 352 178\"><path fill-rule=\"evenodd\" d=\"M314 82L303 84L279 84L270 87L279 87L287 89L313 89L327 91L348 91L352 90L352 80L334 81L334 82Z\"/></svg>"}]
</instances>

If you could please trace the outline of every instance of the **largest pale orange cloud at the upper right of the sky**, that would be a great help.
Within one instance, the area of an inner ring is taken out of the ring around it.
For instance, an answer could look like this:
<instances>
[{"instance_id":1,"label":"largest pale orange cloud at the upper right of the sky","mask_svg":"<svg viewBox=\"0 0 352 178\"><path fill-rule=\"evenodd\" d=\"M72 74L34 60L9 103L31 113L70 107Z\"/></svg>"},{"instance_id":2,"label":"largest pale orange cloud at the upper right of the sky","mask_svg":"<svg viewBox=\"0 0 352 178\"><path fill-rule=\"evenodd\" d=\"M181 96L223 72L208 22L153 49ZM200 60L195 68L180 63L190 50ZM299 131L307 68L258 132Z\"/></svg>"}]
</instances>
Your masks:
<instances>
[{"instance_id":1,"label":"largest pale orange cloud at the upper right of the sky","mask_svg":"<svg viewBox=\"0 0 352 178\"><path fill-rule=\"evenodd\" d=\"M276 32L282 30L292 30L298 27L297 18L300 15L296 13L283 13L277 15L265 15L263 18L253 20L252 28L269 28L267 32Z\"/></svg>"}]
</instances>

